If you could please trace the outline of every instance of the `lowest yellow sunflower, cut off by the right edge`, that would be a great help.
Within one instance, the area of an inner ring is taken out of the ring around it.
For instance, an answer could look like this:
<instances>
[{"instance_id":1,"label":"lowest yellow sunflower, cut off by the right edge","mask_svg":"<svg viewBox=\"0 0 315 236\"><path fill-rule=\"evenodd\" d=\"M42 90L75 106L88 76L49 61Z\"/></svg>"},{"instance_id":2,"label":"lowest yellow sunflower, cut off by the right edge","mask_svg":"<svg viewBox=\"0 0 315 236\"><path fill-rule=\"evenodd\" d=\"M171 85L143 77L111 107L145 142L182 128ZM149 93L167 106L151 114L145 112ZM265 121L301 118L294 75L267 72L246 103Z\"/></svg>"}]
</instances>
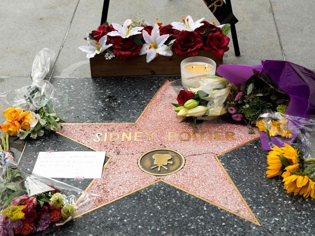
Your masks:
<instances>
[{"instance_id":1,"label":"lowest yellow sunflower, cut off by the right edge","mask_svg":"<svg viewBox=\"0 0 315 236\"><path fill-rule=\"evenodd\" d=\"M315 182L308 176L292 175L282 181L287 193L294 192L294 195L303 195L305 198L310 196L315 199Z\"/></svg>"}]
</instances>

